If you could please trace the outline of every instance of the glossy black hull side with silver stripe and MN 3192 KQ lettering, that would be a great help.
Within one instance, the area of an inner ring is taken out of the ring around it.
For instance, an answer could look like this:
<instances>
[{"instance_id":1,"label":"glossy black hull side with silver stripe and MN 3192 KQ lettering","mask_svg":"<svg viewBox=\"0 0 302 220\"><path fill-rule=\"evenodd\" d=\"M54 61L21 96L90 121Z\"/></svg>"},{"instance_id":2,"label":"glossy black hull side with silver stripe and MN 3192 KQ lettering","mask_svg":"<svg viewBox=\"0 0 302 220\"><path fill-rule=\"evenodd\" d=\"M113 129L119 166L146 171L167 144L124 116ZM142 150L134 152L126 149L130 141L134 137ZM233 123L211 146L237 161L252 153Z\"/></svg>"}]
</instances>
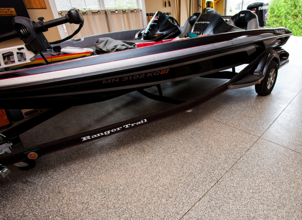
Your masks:
<instances>
[{"instance_id":1,"label":"glossy black hull side with silver stripe and MN 3192 KQ lettering","mask_svg":"<svg viewBox=\"0 0 302 220\"><path fill-rule=\"evenodd\" d=\"M248 64L283 45L285 28L201 36L0 74L0 108L53 108Z\"/></svg>"}]
</instances>

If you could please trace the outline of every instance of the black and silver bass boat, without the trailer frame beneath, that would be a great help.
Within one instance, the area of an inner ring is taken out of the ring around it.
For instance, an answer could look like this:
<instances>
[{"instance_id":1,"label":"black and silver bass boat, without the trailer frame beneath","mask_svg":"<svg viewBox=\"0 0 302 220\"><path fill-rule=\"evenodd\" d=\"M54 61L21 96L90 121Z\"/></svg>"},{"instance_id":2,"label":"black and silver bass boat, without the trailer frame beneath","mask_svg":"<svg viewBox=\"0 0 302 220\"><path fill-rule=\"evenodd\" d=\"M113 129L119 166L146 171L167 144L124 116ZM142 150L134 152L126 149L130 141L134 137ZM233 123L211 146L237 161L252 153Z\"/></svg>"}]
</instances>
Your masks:
<instances>
[{"instance_id":1,"label":"black and silver bass boat, without the trailer frame beneath","mask_svg":"<svg viewBox=\"0 0 302 220\"><path fill-rule=\"evenodd\" d=\"M25 45L1 49L0 108L54 108L100 102L161 83L192 77L227 78L230 88L259 84L272 60L288 62L281 49L291 31L260 27L257 15L245 10L226 22L212 8L193 14L179 27L157 12L144 30L128 30L49 43L43 31L63 23L83 25L79 10L65 17L36 23L15 17L15 31ZM187 38L187 35L196 37ZM94 48L98 39L135 42L132 49L90 55L53 55L51 48ZM176 40L179 39L179 40ZM52 53L51 53L52 52ZM37 58L37 55L40 58ZM73 58L74 57L74 58ZM251 64L240 76L223 72ZM259 71L259 68L261 69Z\"/></svg>"}]
</instances>

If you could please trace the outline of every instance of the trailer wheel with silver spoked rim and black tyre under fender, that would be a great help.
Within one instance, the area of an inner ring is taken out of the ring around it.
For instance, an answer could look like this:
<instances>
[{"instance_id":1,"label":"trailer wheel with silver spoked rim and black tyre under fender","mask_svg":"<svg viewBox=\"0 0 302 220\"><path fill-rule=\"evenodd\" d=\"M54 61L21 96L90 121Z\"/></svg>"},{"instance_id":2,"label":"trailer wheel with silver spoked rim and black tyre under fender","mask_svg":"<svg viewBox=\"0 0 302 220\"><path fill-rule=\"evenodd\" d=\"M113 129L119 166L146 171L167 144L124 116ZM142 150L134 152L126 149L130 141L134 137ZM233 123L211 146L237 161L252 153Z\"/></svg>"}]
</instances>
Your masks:
<instances>
[{"instance_id":1,"label":"trailer wheel with silver spoked rim and black tyre under fender","mask_svg":"<svg viewBox=\"0 0 302 220\"><path fill-rule=\"evenodd\" d=\"M268 65L266 74L261 83L255 85L256 93L260 96L267 96L273 90L278 74L278 64L276 61L271 61Z\"/></svg>"}]
</instances>

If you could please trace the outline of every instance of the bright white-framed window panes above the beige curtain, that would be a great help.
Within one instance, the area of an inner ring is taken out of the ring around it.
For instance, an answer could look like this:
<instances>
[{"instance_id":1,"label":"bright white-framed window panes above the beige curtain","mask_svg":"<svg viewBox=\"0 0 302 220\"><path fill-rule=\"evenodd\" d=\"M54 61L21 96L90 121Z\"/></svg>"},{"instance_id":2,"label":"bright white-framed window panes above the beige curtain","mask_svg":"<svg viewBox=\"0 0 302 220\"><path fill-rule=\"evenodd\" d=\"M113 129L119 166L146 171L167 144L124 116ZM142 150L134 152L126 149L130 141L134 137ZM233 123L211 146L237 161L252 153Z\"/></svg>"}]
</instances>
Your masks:
<instances>
[{"instance_id":1,"label":"bright white-framed window panes above the beige curtain","mask_svg":"<svg viewBox=\"0 0 302 220\"><path fill-rule=\"evenodd\" d=\"M58 11L140 8L138 0L54 0Z\"/></svg>"}]
</instances>

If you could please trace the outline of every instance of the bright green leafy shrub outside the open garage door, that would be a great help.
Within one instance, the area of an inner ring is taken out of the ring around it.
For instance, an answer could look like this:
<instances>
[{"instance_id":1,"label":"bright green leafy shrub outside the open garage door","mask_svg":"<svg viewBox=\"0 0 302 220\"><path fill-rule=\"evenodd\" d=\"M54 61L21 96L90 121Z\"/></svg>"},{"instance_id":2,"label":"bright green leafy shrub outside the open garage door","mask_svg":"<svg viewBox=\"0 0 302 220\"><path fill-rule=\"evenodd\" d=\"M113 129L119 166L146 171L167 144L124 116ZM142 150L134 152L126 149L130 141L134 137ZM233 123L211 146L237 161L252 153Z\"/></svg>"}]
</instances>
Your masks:
<instances>
[{"instance_id":1,"label":"bright green leafy shrub outside the open garage door","mask_svg":"<svg viewBox=\"0 0 302 220\"><path fill-rule=\"evenodd\" d=\"M287 27L302 36L302 0L272 0L266 27Z\"/></svg>"}]
</instances>

